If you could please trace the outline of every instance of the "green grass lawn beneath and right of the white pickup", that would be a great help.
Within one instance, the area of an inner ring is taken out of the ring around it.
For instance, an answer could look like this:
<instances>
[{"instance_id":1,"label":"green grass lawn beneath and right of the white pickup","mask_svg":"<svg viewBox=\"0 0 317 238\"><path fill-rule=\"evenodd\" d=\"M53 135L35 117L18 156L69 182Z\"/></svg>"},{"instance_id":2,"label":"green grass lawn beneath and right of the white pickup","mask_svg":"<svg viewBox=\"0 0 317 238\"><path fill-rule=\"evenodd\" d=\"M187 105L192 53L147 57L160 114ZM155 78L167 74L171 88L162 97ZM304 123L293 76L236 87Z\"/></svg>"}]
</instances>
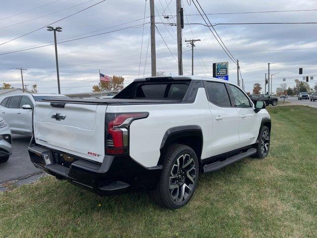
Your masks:
<instances>
[{"instance_id":1,"label":"green grass lawn beneath and right of the white pickup","mask_svg":"<svg viewBox=\"0 0 317 238\"><path fill-rule=\"evenodd\" d=\"M269 107L270 153L204 174L191 202L100 197L45 177L0 193L0 237L317 237L317 110Z\"/></svg>"}]
</instances>

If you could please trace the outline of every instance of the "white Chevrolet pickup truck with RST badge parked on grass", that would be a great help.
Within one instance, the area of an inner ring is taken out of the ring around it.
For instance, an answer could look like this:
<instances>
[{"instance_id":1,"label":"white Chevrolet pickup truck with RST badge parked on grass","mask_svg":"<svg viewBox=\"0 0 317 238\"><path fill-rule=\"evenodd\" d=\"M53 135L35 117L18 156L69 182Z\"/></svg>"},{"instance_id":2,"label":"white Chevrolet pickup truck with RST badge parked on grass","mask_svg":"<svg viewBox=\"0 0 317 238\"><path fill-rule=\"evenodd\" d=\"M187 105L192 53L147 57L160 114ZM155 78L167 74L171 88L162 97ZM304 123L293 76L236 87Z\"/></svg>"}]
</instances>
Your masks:
<instances>
[{"instance_id":1,"label":"white Chevrolet pickup truck with RST badge parked on grass","mask_svg":"<svg viewBox=\"0 0 317 238\"><path fill-rule=\"evenodd\" d=\"M36 103L31 161L100 195L146 189L169 209L201 173L269 151L270 116L236 85L199 76L136 79L112 99Z\"/></svg>"}]
</instances>

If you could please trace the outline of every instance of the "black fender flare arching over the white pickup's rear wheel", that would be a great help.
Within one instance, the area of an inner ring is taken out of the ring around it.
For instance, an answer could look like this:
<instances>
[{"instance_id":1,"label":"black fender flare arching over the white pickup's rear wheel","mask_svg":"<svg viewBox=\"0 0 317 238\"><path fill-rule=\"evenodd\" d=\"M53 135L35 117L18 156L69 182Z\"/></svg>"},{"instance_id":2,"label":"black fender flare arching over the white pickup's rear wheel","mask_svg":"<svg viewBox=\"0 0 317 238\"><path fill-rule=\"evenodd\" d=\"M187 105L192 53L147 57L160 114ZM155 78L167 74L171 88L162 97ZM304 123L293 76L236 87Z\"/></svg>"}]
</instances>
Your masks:
<instances>
[{"instance_id":1,"label":"black fender flare arching over the white pickup's rear wheel","mask_svg":"<svg viewBox=\"0 0 317 238\"><path fill-rule=\"evenodd\" d=\"M171 127L169 128L165 133L162 138L162 142L160 144L159 150L161 152L160 158L159 158L159 163L158 165L161 165L163 163L162 158L162 151L175 140L181 139L184 137L190 137L190 136L195 136L200 138L200 149L199 151L195 151L198 153L198 160L200 160L200 156L202 154L203 150L203 131L202 128L199 125L184 125L184 126L176 126L176 127Z\"/></svg>"}]
</instances>

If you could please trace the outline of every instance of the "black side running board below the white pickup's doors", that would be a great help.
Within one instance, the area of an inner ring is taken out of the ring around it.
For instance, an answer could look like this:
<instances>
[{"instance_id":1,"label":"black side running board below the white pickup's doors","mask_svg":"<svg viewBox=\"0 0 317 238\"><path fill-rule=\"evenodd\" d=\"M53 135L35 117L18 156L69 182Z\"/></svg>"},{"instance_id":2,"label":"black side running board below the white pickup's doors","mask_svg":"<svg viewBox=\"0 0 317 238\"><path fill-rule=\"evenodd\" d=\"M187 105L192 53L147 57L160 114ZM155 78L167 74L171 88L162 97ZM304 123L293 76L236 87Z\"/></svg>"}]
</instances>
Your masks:
<instances>
[{"instance_id":1,"label":"black side running board below the white pickup's doors","mask_svg":"<svg viewBox=\"0 0 317 238\"><path fill-rule=\"evenodd\" d=\"M218 162L211 163L209 165L205 165L203 168L204 173L220 170L221 168L226 167L227 165L233 164L234 162L247 158L251 155L254 155L255 153L257 153L257 149L251 148L247 152L234 155L224 161L218 161Z\"/></svg>"}]
</instances>

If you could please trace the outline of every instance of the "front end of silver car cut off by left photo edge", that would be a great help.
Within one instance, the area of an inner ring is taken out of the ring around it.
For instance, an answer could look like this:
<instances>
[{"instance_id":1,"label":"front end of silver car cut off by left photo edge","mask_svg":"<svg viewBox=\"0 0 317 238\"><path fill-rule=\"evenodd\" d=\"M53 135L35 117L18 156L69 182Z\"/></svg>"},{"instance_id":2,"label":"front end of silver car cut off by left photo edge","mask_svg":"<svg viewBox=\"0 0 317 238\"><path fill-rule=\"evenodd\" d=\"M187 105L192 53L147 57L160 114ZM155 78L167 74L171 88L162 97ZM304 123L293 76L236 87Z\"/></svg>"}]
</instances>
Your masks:
<instances>
[{"instance_id":1,"label":"front end of silver car cut off by left photo edge","mask_svg":"<svg viewBox=\"0 0 317 238\"><path fill-rule=\"evenodd\" d=\"M6 162L11 153L11 130L5 120L0 117L0 163Z\"/></svg>"}]
</instances>

